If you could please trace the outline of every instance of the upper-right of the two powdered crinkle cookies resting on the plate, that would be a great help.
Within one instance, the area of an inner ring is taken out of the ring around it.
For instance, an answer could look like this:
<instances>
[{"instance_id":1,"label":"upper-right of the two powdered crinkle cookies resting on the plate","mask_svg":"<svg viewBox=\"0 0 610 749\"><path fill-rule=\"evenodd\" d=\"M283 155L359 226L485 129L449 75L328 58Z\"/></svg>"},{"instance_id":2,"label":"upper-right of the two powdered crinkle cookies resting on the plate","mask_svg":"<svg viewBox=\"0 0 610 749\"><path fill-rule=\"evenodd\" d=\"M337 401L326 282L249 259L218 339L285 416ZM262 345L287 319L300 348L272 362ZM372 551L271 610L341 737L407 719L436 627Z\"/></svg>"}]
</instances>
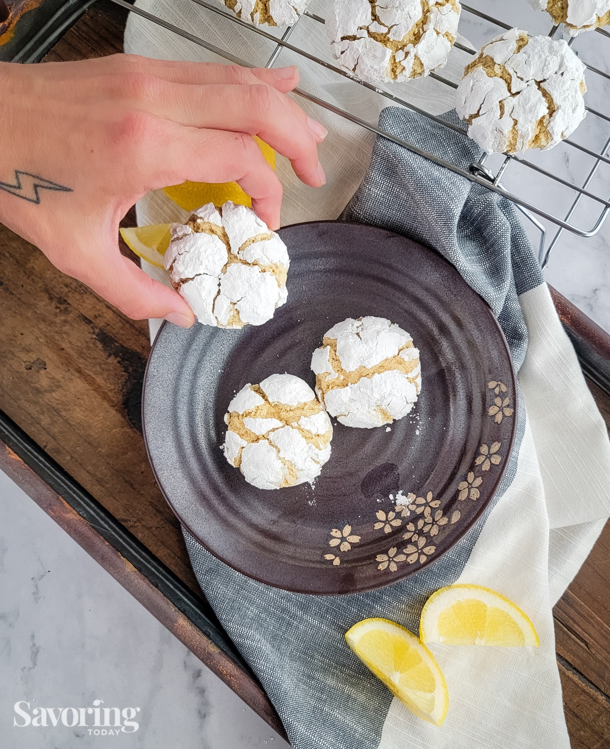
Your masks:
<instances>
[{"instance_id":1,"label":"upper-right of the two powdered crinkle cookies resting on the plate","mask_svg":"<svg viewBox=\"0 0 610 749\"><path fill-rule=\"evenodd\" d=\"M347 318L327 330L311 357L316 392L346 426L373 428L402 419L421 392L419 351L385 318Z\"/></svg>"}]
</instances>

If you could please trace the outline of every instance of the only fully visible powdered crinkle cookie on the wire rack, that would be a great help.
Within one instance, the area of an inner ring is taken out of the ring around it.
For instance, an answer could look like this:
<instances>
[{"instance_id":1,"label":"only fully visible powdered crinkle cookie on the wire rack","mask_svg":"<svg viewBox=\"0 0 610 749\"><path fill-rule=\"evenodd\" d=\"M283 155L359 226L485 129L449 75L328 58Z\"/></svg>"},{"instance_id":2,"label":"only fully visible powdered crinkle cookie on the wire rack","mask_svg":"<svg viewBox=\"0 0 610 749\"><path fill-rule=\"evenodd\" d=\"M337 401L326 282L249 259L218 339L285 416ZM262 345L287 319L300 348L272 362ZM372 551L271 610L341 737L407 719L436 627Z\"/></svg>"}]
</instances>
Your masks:
<instances>
[{"instance_id":1,"label":"only fully visible powdered crinkle cookie on the wire rack","mask_svg":"<svg viewBox=\"0 0 610 749\"><path fill-rule=\"evenodd\" d=\"M547 151L585 117L584 76L585 66L565 40L511 28L464 70L457 113L489 154Z\"/></svg>"}]
</instances>

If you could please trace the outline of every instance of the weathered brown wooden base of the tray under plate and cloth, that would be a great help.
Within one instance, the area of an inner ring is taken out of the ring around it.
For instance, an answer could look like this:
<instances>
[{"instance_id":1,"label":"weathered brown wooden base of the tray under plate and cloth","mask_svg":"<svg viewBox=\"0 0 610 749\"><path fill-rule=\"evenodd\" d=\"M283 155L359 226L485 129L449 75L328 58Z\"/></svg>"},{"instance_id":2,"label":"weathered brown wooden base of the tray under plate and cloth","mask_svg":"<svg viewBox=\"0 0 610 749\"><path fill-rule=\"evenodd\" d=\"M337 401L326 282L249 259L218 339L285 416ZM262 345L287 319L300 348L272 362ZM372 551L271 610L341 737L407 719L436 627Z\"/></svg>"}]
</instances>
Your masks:
<instances>
[{"instance_id":1,"label":"weathered brown wooden base of the tray under plate and cloth","mask_svg":"<svg viewBox=\"0 0 610 749\"><path fill-rule=\"evenodd\" d=\"M124 20L122 10L100 0L46 59L120 51ZM0 318L0 409L197 591L141 436L147 323L124 318L2 226ZM590 386L610 424L609 396ZM610 746L609 570L606 525L554 610L573 749Z\"/></svg>"}]
</instances>

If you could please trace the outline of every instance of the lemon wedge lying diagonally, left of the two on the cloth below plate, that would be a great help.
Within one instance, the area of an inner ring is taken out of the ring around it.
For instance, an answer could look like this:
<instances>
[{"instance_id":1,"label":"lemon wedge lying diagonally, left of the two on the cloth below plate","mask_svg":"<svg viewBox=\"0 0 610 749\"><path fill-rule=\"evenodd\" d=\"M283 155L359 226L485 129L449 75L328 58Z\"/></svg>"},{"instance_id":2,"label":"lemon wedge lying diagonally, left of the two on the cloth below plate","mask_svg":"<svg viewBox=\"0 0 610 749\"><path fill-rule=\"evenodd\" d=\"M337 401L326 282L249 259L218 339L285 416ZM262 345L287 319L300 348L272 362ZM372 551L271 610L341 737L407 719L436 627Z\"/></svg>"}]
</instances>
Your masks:
<instances>
[{"instance_id":1,"label":"lemon wedge lying diagonally, left of the two on the cloth below plate","mask_svg":"<svg viewBox=\"0 0 610 749\"><path fill-rule=\"evenodd\" d=\"M424 721L442 725L449 708L445 676L415 634L388 619L365 619L345 639L403 705Z\"/></svg>"}]
</instances>

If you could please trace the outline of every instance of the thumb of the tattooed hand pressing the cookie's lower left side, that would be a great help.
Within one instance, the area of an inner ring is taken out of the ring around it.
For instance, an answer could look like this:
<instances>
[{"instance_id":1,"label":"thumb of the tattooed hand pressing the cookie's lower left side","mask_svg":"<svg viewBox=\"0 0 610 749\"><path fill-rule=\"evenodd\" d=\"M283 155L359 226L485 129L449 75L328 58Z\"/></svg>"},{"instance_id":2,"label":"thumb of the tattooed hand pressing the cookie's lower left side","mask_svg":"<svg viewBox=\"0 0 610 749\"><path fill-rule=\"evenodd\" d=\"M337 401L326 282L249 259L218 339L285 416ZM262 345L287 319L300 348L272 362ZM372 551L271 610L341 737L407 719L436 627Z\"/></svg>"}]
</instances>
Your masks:
<instances>
[{"instance_id":1,"label":"thumb of the tattooed hand pressing the cookie's lower left side","mask_svg":"<svg viewBox=\"0 0 610 749\"><path fill-rule=\"evenodd\" d=\"M173 288L154 281L118 251L97 256L81 279L100 297L134 320L164 318L180 327L191 327L195 315Z\"/></svg>"}]
</instances>

